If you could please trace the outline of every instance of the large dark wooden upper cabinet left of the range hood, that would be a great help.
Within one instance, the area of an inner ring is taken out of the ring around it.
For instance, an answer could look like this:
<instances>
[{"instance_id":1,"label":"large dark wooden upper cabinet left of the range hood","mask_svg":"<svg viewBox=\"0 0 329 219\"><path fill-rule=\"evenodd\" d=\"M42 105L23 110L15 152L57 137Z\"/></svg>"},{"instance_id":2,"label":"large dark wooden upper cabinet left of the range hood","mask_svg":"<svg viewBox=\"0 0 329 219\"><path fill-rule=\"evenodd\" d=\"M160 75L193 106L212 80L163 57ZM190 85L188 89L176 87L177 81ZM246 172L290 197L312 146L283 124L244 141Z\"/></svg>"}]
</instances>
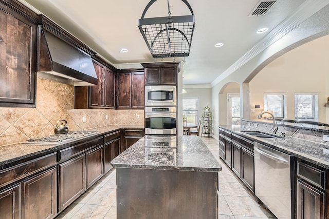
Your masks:
<instances>
[{"instance_id":1,"label":"large dark wooden upper cabinet left of the range hood","mask_svg":"<svg viewBox=\"0 0 329 219\"><path fill-rule=\"evenodd\" d=\"M0 0L0 106L35 107L38 15Z\"/></svg>"}]
</instances>

